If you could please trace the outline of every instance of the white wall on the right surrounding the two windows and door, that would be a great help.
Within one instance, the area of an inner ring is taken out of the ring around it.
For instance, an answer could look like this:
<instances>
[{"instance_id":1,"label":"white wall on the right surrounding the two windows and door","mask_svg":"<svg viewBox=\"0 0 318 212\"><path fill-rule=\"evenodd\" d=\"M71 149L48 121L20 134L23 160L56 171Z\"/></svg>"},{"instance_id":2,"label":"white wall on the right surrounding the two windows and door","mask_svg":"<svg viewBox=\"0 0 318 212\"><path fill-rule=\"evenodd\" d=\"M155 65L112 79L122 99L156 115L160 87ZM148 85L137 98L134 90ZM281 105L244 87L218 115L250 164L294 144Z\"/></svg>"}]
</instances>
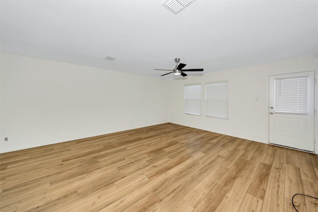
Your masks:
<instances>
[{"instance_id":1,"label":"white wall on the right surrounding the two windows and door","mask_svg":"<svg viewBox=\"0 0 318 212\"><path fill-rule=\"evenodd\" d=\"M318 78L318 58L308 56L261 66L219 71L185 80L171 81L170 122L211 132L268 143L269 75L313 71ZM184 114L184 85L229 80L229 119L205 117L205 91L202 93L202 116ZM318 109L318 83L316 109ZM258 101L255 99L258 98ZM315 114L315 151L318 153L318 113Z\"/></svg>"}]
</instances>

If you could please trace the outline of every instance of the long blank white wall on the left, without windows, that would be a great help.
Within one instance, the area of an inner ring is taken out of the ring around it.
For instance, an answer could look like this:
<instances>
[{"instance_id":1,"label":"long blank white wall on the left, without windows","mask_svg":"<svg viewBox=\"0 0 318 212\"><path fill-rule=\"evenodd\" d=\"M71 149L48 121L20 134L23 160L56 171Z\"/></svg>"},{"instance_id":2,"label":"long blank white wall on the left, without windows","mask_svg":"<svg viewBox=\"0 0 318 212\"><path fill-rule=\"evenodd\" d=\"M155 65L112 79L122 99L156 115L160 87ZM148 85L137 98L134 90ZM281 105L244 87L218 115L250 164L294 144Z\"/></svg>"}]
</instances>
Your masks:
<instances>
[{"instance_id":1,"label":"long blank white wall on the left, without windows","mask_svg":"<svg viewBox=\"0 0 318 212\"><path fill-rule=\"evenodd\" d=\"M0 69L0 152L168 122L164 80L4 52Z\"/></svg>"}]
</instances>

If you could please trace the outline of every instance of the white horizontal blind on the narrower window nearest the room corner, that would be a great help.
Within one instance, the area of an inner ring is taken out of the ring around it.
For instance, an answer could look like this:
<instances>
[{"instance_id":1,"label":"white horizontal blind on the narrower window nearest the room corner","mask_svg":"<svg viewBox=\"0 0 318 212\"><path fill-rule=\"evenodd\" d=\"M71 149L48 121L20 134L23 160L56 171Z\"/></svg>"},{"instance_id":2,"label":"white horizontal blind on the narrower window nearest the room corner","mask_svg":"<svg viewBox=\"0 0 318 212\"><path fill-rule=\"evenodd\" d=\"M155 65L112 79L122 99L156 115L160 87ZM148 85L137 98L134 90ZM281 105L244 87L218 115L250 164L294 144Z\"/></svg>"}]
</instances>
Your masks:
<instances>
[{"instance_id":1,"label":"white horizontal blind on the narrower window nearest the room corner","mask_svg":"<svg viewBox=\"0 0 318 212\"><path fill-rule=\"evenodd\" d=\"M185 85L185 113L201 116L201 84Z\"/></svg>"}]
</instances>

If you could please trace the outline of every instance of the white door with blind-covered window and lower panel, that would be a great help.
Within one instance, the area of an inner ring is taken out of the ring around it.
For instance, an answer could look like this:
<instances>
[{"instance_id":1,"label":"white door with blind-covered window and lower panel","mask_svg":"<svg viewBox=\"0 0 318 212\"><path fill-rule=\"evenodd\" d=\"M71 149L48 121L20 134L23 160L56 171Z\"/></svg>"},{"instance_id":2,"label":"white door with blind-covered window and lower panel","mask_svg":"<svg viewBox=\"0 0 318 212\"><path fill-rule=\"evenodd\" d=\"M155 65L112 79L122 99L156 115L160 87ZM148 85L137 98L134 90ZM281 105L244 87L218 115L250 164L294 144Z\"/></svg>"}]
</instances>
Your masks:
<instances>
[{"instance_id":1,"label":"white door with blind-covered window and lower panel","mask_svg":"<svg viewBox=\"0 0 318 212\"><path fill-rule=\"evenodd\" d=\"M269 143L314 151L314 71L269 76Z\"/></svg>"}]
</instances>

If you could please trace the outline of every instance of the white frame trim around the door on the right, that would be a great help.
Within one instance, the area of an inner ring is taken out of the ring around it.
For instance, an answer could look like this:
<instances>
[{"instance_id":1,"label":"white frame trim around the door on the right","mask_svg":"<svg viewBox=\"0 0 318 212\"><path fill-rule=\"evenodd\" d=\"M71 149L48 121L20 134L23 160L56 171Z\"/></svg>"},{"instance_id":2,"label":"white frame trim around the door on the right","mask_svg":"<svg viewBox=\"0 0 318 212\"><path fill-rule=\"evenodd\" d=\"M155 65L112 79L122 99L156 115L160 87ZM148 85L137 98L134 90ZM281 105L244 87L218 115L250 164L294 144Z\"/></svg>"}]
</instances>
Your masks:
<instances>
[{"instance_id":1,"label":"white frame trim around the door on the right","mask_svg":"<svg viewBox=\"0 0 318 212\"><path fill-rule=\"evenodd\" d=\"M315 144L314 144L314 153L318 154L318 69L307 69L307 70L301 70L301 71L269 71L266 77L266 141L269 143L269 76L271 75L280 75L280 74L288 74L288 73L301 73L301 72L307 72L307 71L314 71L314 78L316 79L316 83L314 84L314 108L316 110L316 113L314 114L314 138L315 138ZM288 148L288 147L286 147ZM302 151L302 150L300 150ZM312 152L313 153L313 152Z\"/></svg>"}]
</instances>

